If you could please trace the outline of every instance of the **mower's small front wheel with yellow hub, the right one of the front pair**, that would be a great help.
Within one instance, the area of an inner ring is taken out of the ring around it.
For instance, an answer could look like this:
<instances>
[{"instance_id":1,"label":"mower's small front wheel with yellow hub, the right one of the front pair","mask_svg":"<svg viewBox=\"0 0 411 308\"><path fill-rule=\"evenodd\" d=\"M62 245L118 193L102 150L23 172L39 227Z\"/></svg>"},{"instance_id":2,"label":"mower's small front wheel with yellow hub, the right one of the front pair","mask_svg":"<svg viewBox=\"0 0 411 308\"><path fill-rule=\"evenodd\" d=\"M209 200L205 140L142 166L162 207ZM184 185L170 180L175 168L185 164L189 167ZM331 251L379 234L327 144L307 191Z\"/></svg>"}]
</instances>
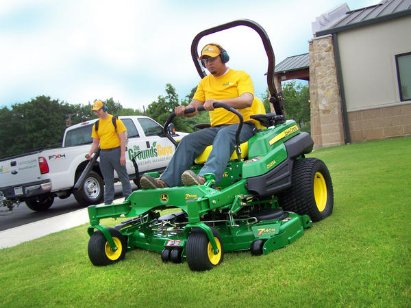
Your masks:
<instances>
[{"instance_id":1,"label":"mower's small front wheel with yellow hub, the right one of the front pair","mask_svg":"<svg viewBox=\"0 0 411 308\"><path fill-rule=\"evenodd\" d=\"M199 229L192 229L186 242L186 257L190 270L211 270L221 264L224 258L223 241L219 231L212 228L214 240L219 247L219 253L214 255L212 245L207 238L206 233Z\"/></svg>"}]
</instances>

